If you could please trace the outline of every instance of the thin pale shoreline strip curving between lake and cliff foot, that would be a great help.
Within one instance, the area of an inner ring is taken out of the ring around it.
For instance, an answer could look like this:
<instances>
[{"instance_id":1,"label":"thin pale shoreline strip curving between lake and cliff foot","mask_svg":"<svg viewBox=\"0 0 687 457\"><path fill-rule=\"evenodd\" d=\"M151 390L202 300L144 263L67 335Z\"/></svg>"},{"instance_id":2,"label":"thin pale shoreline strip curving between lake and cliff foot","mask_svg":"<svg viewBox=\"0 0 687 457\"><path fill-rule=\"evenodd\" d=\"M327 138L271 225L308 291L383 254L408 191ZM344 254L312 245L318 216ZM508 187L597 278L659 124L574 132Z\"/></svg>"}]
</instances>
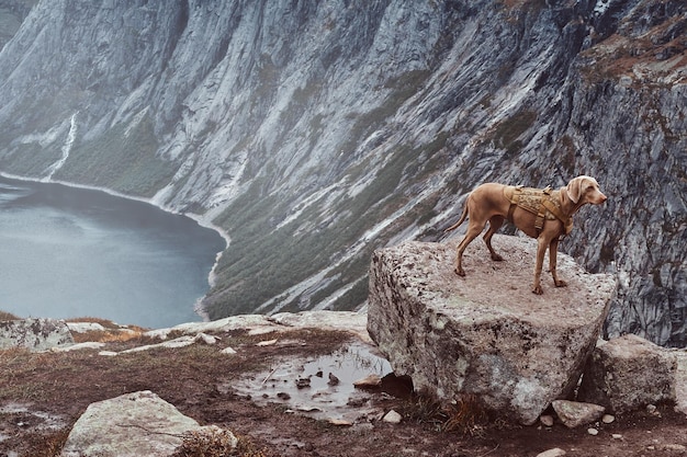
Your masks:
<instances>
[{"instance_id":1,"label":"thin pale shoreline strip curving between lake and cliff foot","mask_svg":"<svg viewBox=\"0 0 687 457\"><path fill-rule=\"evenodd\" d=\"M178 210L171 209L169 207L165 207L165 206L162 206L162 205L160 205L158 203L155 203L153 201L153 198L139 197L139 196L135 196L135 195L123 194L121 192L116 192L116 191L113 191L113 190L108 188L108 187L99 187L99 186L95 186L95 185L78 184L78 183L71 183L71 182L67 182L67 181L57 181L57 180L53 180L53 179L38 179L38 178L21 176L21 175L18 175L18 174L7 173L7 172L1 171L1 170L0 170L0 176L7 178L7 179L10 179L10 180L16 180L16 181L26 181L26 182L46 183L46 184L60 184L60 185L64 185L66 187L104 192L108 195L112 195L112 196L115 196L115 197L119 197L119 198L126 198L126 199L131 199L131 201L135 201L135 202L146 203L148 205L155 206L156 208L161 209L161 210L164 210L166 213L169 213L169 214L172 214L172 215L188 217L189 219L195 221L195 224L198 224L200 227L214 230L215 232L217 232L219 235L219 237L222 237L222 239L225 242L225 247L224 247L224 249L222 251L216 253L215 262L212 265L212 269L210 270L210 273L207 274L207 286L209 286L207 292L210 292L210 288L214 287L215 279L216 279L215 269L219 264L219 259L222 259L222 255L224 254L224 251L226 251L227 248L229 247L229 244L232 243L230 237L228 236L228 233L226 231L224 231L224 229L222 229L219 226L217 226L217 225L215 225L215 224L213 224L211 221L205 220L202 215L198 215L195 213L178 212ZM202 297L199 297L195 300L195 302L192 304L192 307L193 307L192 309L193 309L193 312L195 312L204 322L209 322L210 318L207 316L207 312L205 311L205 309L202 306L202 301L205 299L205 297L207 297L207 294L204 294Z\"/></svg>"}]
</instances>

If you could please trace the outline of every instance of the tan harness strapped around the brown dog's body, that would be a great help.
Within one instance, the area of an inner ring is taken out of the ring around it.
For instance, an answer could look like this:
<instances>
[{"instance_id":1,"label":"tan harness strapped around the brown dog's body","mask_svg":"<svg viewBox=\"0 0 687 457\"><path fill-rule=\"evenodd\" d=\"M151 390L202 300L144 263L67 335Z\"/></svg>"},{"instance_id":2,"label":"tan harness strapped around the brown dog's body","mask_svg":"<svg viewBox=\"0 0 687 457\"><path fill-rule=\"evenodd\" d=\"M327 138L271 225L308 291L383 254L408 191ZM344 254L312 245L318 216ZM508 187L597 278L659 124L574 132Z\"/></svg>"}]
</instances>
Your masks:
<instances>
[{"instance_id":1,"label":"tan harness strapped around the brown dog's body","mask_svg":"<svg viewBox=\"0 0 687 457\"><path fill-rule=\"evenodd\" d=\"M565 216L561 209L561 191L552 191L551 187L534 188L507 185L504 187L504 196L510 202L508 208L508 221L513 224L513 213L520 207L537 215L534 228L541 232L544 219L559 219L565 227L565 235L573 230L573 218Z\"/></svg>"}]
</instances>

